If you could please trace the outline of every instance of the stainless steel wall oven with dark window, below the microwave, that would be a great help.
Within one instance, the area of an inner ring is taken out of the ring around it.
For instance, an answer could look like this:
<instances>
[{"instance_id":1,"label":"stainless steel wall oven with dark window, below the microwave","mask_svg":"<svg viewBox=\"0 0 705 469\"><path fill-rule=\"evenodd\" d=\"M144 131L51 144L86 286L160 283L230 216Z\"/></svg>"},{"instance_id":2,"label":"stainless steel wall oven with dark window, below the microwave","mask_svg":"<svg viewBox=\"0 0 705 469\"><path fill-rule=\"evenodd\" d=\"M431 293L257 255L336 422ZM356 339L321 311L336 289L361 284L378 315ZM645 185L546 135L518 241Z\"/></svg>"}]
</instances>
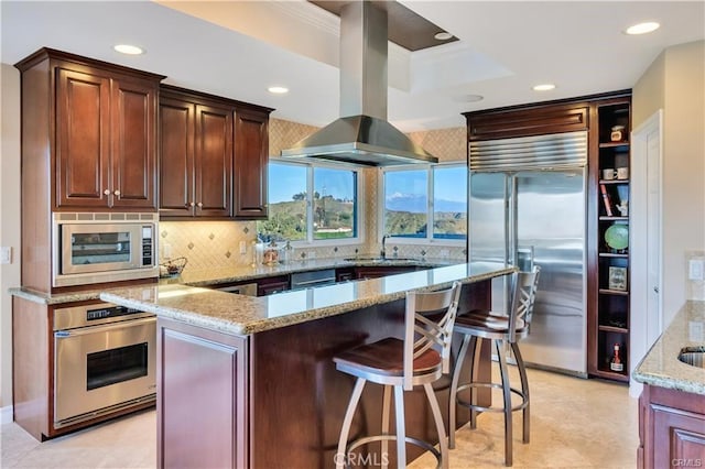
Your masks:
<instances>
[{"instance_id":1,"label":"stainless steel wall oven with dark window, below the microwave","mask_svg":"<svg viewBox=\"0 0 705 469\"><path fill-rule=\"evenodd\" d=\"M110 303L54 310L54 427L156 396L156 318Z\"/></svg>"}]
</instances>

